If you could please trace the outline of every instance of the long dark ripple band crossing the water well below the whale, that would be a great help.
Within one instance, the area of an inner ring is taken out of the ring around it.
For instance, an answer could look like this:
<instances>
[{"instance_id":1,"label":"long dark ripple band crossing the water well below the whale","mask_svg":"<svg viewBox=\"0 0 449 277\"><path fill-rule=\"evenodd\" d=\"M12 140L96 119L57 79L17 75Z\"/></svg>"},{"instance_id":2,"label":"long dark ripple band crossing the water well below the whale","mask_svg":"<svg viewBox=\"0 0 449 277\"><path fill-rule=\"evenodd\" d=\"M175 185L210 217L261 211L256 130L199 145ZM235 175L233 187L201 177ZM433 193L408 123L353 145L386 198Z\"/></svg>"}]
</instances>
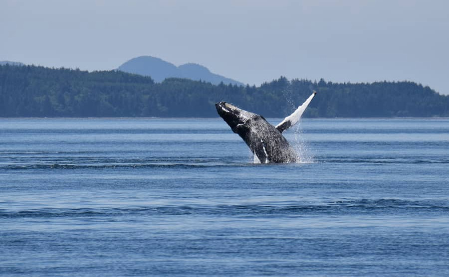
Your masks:
<instances>
[{"instance_id":1,"label":"long dark ripple band crossing the water well below the whale","mask_svg":"<svg viewBox=\"0 0 449 277\"><path fill-rule=\"evenodd\" d=\"M103 204L104 207L56 207L51 204L45 208L24 209L22 203L14 203L17 208L0 209L0 218L94 218L94 217L132 217L158 215L221 215L221 216L342 216L342 215L438 215L449 211L447 200L414 200L396 198L356 198L350 200L333 199L314 203L305 201L253 203L212 203L198 202L149 204L145 206L126 206L120 203Z\"/></svg>"}]
</instances>

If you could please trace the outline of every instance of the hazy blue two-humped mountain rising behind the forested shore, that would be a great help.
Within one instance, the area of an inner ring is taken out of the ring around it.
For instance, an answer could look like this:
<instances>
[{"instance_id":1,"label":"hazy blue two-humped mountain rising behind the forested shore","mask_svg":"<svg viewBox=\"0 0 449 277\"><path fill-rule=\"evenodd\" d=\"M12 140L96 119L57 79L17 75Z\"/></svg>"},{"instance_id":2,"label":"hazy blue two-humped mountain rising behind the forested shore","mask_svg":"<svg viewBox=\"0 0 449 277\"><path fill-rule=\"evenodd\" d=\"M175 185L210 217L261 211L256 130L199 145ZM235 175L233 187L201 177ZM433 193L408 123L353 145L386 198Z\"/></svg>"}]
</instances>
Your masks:
<instances>
[{"instance_id":1,"label":"hazy blue two-humped mountain rising behind the forested shore","mask_svg":"<svg viewBox=\"0 0 449 277\"><path fill-rule=\"evenodd\" d=\"M224 84L244 85L238 81L212 73L207 67L195 63L186 63L176 66L160 58L141 56L133 58L117 68L117 70L150 76L156 82L162 82L166 78L186 78L191 80L202 80L218 85Z\"/></svg>"}]
</instances>

